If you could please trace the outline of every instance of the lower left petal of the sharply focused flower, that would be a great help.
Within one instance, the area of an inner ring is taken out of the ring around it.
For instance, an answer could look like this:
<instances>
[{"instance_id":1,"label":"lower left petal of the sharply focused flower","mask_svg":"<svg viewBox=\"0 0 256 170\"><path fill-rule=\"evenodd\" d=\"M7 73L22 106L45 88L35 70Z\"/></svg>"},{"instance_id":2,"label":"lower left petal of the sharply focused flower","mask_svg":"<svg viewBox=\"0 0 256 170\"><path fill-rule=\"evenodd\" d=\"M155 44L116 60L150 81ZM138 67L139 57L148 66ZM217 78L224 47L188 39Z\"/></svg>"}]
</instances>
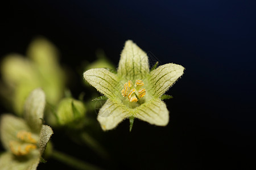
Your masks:
<instances>
[{"instance_id":1,"label":"lower left petal of the sharply focused flower","mask_svg":"<svg viewBox=\"0 0 256 170\"><path fill-rule=\"evenodd\" d=\"M114 103L108 99L100 109L97 120L100 122L103 130L110 130L129 116L130 112L125 108L125 105Z\"/></svg>"}]
</instances>

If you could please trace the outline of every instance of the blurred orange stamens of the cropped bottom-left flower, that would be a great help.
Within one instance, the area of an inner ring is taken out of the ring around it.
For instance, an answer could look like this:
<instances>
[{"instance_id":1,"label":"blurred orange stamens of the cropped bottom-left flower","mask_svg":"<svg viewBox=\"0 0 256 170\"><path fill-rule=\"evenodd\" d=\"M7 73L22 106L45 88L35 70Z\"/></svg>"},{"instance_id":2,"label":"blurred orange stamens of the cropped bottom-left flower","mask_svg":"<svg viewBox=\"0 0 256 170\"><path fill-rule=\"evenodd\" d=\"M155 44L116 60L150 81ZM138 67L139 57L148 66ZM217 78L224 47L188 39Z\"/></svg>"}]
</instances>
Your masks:
<instances>
[{"instance_id":1,"label":"blurred orange stamens of the cropped bottom-left flower","mask_svg":"<svg viewBox=\"0 0 256 170\"><path fill-rule=\"evenodd\" d=\"M27 155L31 150L36 148L36 140L28 131L19 131L17 133L18 140L10 141L10 149L14 155Z\"/></svg>"}]
</instances>

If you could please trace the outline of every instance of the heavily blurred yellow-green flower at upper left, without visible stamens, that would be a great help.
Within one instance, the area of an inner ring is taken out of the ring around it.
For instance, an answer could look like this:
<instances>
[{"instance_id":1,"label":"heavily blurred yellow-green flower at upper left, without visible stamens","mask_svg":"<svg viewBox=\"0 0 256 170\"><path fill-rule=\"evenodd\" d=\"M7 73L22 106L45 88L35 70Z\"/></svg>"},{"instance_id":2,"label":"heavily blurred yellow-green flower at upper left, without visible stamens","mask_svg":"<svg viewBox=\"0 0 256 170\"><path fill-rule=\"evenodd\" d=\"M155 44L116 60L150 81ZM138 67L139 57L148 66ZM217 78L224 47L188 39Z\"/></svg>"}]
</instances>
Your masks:
<instances>
[{"instance_id":1,"label":"heavily blurred yellow-green flower at upper left, without visible stamens","mask_svg":"<svg viewBox=\"0 0 256 170\"><path fill-rule=\"evenodd\" d=\"M28 46L27 57L9 54L1 63L3 83L0 92L13 105L14 112L22 114L24 101L35 88L42 87L47 102L55 105L63 96L64 71L58 62L56 47L40 37Z\"/></svg>"}]
</instances>

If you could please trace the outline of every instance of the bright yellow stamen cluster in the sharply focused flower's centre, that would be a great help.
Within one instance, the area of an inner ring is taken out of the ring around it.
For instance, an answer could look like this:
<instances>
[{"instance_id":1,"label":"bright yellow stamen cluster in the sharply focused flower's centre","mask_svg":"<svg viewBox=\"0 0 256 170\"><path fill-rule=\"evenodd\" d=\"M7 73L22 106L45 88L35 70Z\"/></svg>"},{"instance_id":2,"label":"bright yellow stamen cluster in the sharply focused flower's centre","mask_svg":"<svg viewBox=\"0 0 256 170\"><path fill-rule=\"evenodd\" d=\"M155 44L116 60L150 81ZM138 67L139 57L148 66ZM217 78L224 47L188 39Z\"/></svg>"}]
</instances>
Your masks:
<instances>
[{"instance_id":1,"label":"bright yellow stamen cluster in the sharply focused flower's centre","mask_svg":"<svg viewBox=\"0 0 256 170\"><path fill-rule=\"evenodd\" d=\"M142 86L144 86L142 80L136 80L135 84L129 80L123 85L122 96L128 97L130 102L137 102L146 94L146 90Z\"/></svg>"}]
</instances>

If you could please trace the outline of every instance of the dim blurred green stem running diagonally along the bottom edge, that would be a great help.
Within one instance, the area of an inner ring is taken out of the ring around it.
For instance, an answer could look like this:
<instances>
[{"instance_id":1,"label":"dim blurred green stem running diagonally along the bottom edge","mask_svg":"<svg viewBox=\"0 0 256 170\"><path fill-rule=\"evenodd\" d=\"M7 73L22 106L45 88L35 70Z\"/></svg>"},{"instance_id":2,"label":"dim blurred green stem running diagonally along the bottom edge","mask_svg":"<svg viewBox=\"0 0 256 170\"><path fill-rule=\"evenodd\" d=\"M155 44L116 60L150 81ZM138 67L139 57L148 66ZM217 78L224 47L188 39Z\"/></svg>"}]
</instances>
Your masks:
<instances>
[{"instance_id":1,"label":"dim blurred green stem running diagonally along the bottom edge","mask_svg":"<svg viewBox=\"0 0 256 170\"><path fill-rule=\"evenodd\" d=\"M79 169L79 170L102 170L101 168L96 167L95 165L92 165L90 163L82 162L81 160L78 160L76 158L73 158L72 156L69 156L67 154L63 154L59 151L53 150L51 154L53 159L59 160L62 163L65 163L73 168Z\"/></svg>"}]
</instances>

